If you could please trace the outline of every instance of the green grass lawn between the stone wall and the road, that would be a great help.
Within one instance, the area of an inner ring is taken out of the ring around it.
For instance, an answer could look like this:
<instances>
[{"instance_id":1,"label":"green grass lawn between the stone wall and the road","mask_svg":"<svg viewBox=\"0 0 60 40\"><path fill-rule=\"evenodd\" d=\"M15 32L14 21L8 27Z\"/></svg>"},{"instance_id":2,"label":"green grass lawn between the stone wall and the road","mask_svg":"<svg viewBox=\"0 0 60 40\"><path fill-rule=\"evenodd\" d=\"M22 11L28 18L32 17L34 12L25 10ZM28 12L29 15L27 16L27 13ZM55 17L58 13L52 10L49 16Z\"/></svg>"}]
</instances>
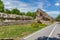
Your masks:
<instances>
[{"instance_id":1,"label":"green grass lawn between the stone wall and the road","mask_svg":"<svg viewBox=\"0 0 60 40\"><path fill-rule=\"evenodd\" d=\"M45 25L40 25L34 28L31 24L0 26L0 38L21 38L44 27Z\"/></svg>"}]
</instances>

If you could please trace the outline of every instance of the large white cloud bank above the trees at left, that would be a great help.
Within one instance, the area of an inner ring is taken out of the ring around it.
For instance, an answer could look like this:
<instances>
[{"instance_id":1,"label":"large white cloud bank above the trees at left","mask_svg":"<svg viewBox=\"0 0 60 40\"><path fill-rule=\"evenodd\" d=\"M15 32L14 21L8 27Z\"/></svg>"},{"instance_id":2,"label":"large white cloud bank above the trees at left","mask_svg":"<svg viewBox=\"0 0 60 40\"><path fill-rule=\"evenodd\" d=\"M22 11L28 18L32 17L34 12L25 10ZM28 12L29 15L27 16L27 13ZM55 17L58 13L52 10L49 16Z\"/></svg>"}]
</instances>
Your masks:
<instances>
[{"instance_id":1,"label":"large white cloud bank above the trees at left","mask_svg":"<svg viewBox=\"0 0 60 40\"><path fill-rule=\"evenodd\" d=\"M22 12L34 11L36 7L30 6L28 3L15 0L2 0L6 9L18 8Z\"/></svg>"}]
</instances>

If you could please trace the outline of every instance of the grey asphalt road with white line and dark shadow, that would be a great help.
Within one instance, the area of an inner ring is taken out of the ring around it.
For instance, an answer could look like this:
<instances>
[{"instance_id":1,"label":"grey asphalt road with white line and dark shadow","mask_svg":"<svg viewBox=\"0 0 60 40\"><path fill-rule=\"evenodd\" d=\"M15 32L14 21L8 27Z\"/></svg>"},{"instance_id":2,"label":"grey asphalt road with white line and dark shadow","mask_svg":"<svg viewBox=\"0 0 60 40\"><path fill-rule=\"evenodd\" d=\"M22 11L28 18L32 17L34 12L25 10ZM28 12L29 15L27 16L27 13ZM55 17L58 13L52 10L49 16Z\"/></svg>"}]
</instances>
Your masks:
<instances>
[{"instance_id":1,"label":"grey asphalt road with white line and dark shadow","mask_svg":"<svg viewBox=\"0 0 60 40\"><path fill-rule=\"evenodd\" d=\"M60 40L60 23L54 23L42 30L39 30L23 40Z\"/></svg>"}]
</instances>

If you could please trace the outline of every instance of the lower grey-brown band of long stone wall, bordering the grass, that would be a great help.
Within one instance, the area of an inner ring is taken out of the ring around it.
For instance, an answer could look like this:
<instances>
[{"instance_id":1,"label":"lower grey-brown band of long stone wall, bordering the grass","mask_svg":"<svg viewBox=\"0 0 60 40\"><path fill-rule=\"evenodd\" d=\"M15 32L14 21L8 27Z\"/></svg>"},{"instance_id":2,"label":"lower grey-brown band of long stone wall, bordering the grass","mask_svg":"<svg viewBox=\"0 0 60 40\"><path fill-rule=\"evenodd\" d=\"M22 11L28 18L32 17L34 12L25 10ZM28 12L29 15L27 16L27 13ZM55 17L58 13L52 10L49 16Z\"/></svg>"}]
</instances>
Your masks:
<instances>
[{"instance_id":1,"label":"lower grey-brown band of long stone wall, bordering the grass","mask_svg":"<svg viewBox=\"0 0 60 40\"><path fill-rule=\"evenodd\" d=\"M5 25L20 25L20 24L31 24L34 20L17 20L17 21L11 21L11 22L0 22L0 26Z\"/></svg>"}]
</instances>

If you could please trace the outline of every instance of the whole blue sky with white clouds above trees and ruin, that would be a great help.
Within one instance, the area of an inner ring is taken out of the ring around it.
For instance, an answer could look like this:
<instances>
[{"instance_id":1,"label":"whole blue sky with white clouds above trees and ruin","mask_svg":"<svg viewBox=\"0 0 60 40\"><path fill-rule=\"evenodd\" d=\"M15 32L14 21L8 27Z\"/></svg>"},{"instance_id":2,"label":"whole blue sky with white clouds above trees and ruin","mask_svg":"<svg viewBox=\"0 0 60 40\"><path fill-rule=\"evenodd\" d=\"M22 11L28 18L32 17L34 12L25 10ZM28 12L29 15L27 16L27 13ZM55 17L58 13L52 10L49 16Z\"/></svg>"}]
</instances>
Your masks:
<instances>
[{"instance_id":1,"label":"whole blue sky with white clouds above trees and ruin","mask_svg":"<svg viewBox=\"0 0 60 40\"><path fill-rule=\"evenodd\" d=\"M38 8L52 17L60 14L60 0L2 0L6 9L18 8L21 12L34 12Z\"/></svg>"}]
</instances>

